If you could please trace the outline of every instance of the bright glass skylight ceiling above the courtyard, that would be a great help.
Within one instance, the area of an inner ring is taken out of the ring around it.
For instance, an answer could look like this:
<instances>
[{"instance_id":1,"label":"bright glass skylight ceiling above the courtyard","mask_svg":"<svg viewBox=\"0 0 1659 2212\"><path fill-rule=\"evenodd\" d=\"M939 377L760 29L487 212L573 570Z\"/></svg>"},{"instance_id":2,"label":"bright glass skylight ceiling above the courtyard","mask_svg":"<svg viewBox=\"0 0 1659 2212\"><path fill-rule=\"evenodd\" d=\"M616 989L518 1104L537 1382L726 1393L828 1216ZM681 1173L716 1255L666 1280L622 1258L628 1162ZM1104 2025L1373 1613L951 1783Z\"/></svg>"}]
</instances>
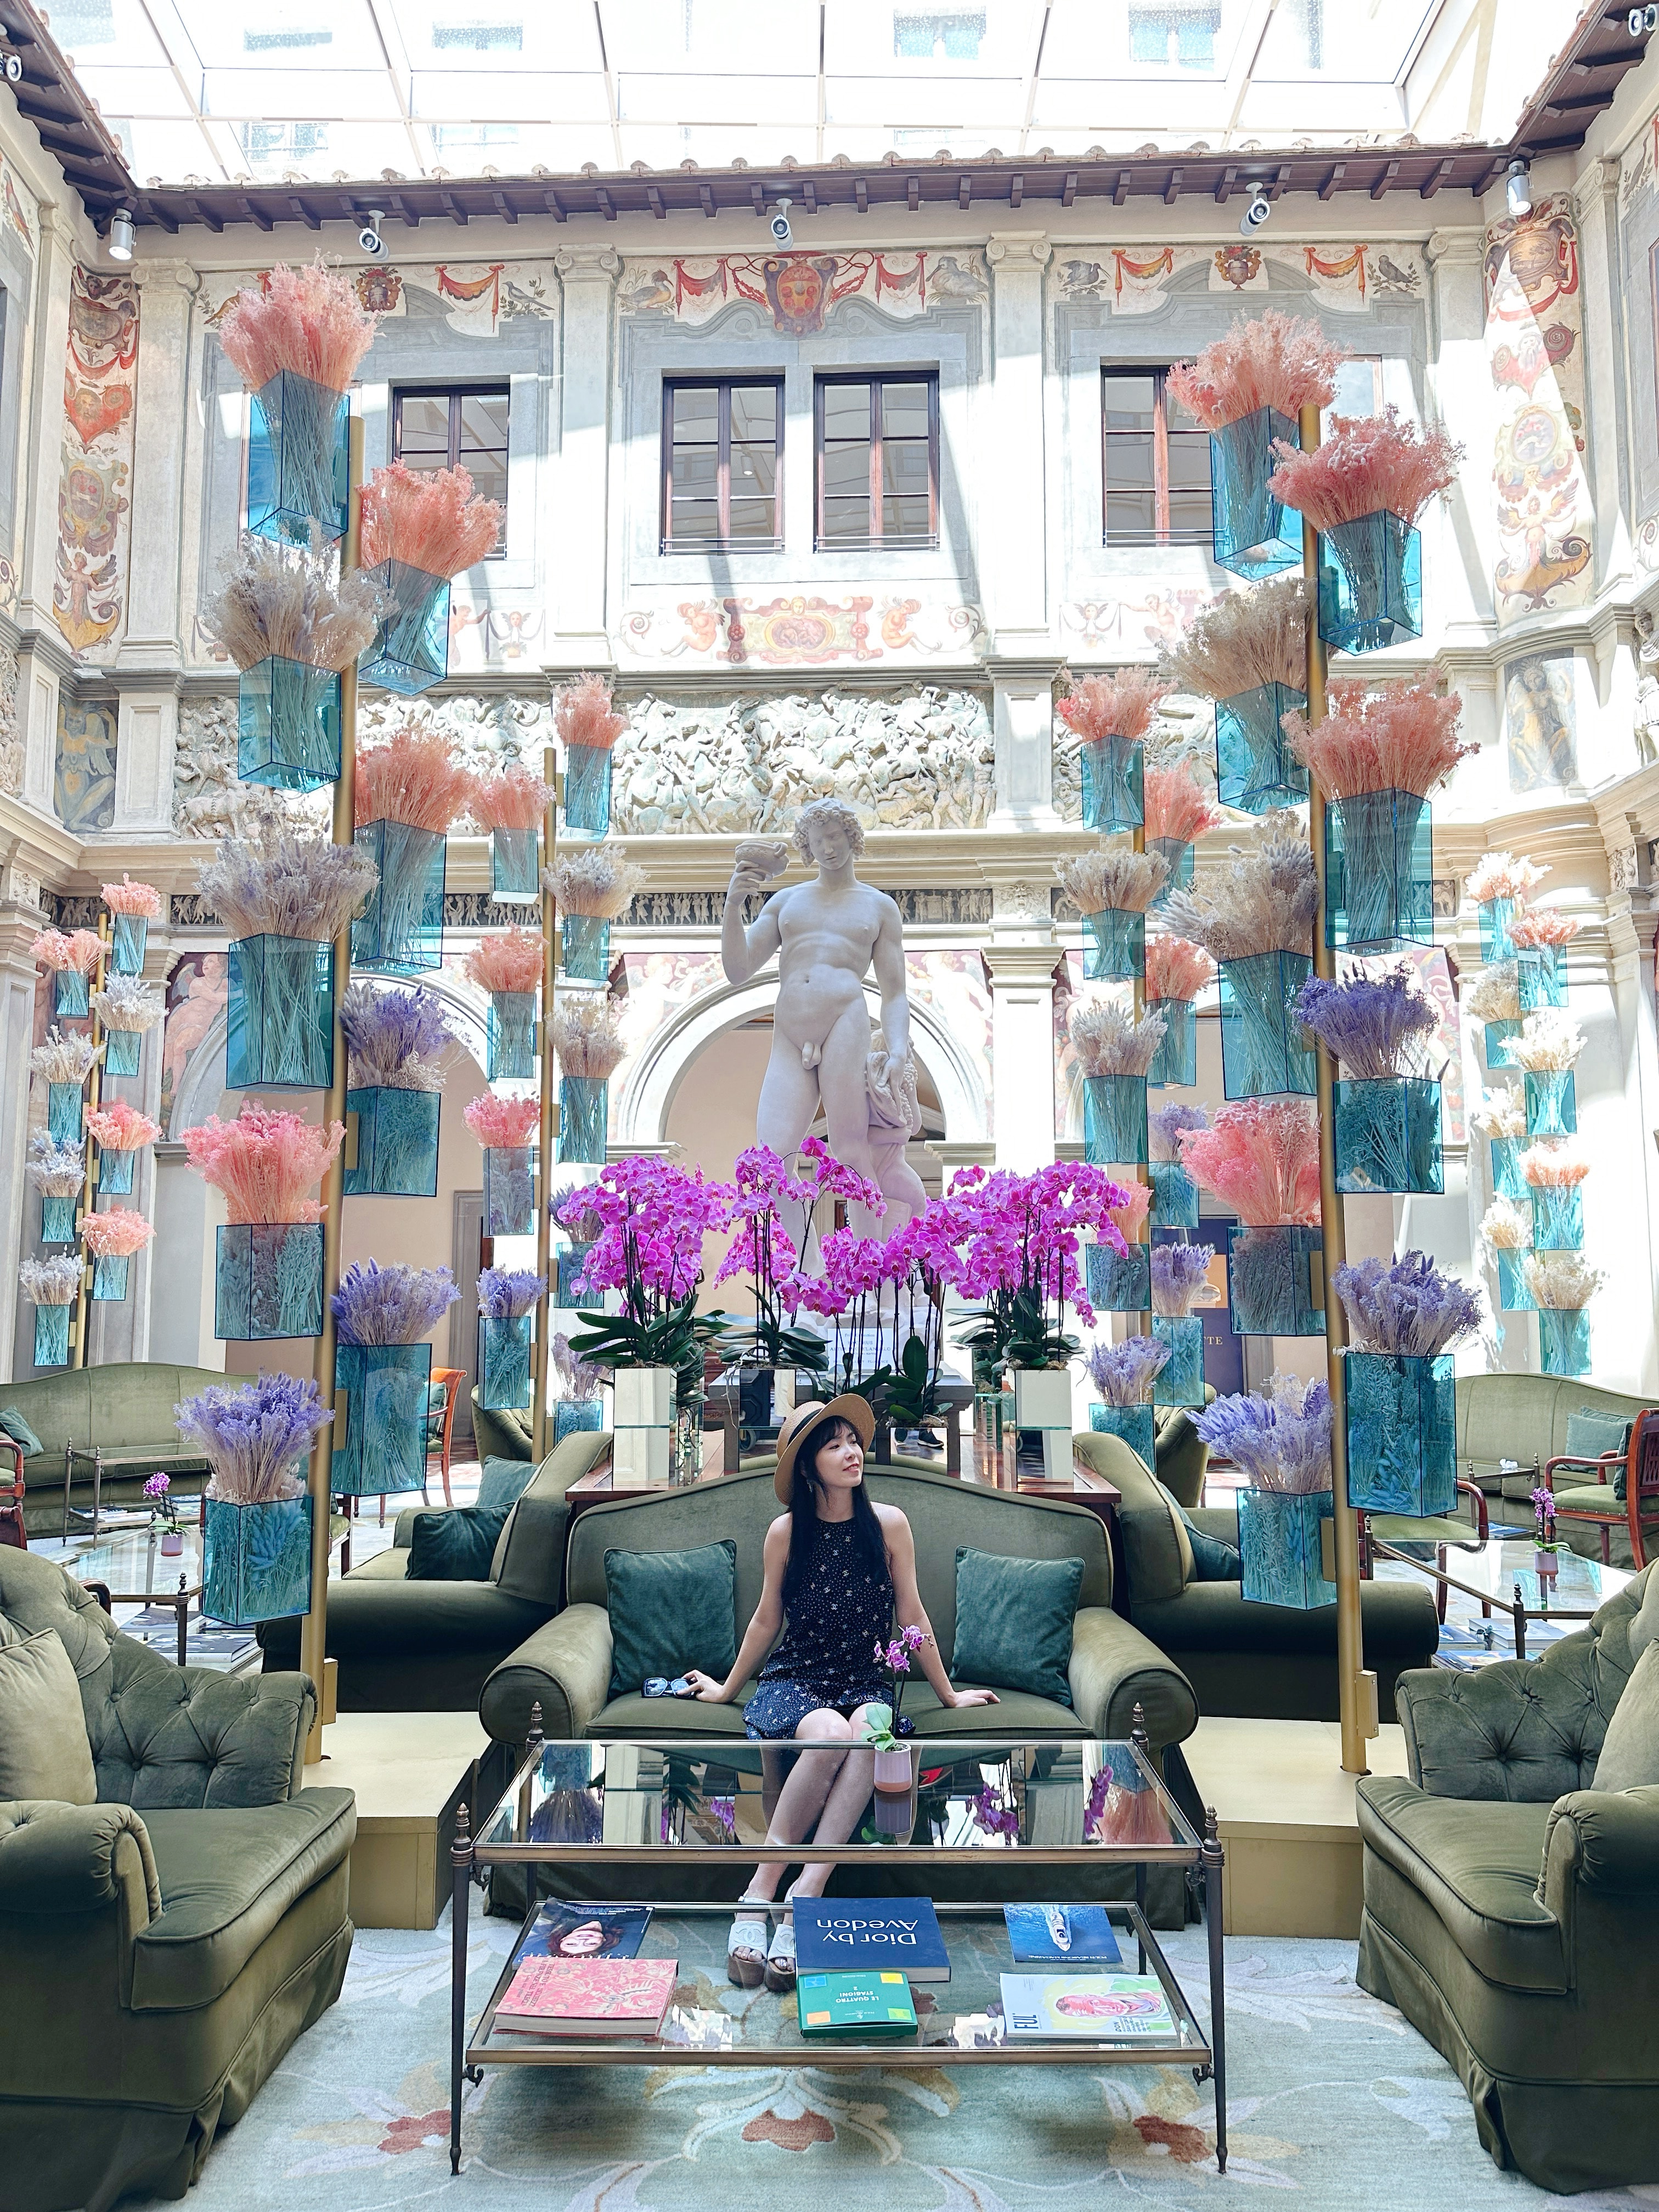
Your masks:
<instances>
[{"instance_id":1,"label":"bright glass skylight ceiling above the courtyard","mask_svg":"<svg viewBox=\"0 0 1659 2212\"><path fill-rule=\"evenodd\" d=\"M51 0L144 184L1391 137L1460 0Z\"/></svg>"}]
</instances>

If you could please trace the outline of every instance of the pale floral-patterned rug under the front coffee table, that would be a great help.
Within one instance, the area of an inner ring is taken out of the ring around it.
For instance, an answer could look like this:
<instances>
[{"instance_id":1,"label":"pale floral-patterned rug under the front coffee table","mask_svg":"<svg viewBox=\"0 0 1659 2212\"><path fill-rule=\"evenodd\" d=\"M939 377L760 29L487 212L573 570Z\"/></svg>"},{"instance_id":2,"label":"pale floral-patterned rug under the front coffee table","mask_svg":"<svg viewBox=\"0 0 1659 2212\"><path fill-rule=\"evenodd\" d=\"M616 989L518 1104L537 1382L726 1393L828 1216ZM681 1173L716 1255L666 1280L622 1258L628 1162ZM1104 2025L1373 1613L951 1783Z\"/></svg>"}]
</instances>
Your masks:
<instances>
[{"instance_id":1,"label":"pale floral-patterned rug under the front coffee table","mask_svg":"<svg viewBox=\"0 0 1659 2212\"><path fill-rule=\"evenodd\" d=\"M513 1933L504 1920L473 1924L473 2008ZM1168 1949L1197 2002L1201 1931L1168 1938ZM701 2004L750 2002L712 1960L695 1978ZM1210 2086L1150 2066L491 2068L467 2093L462 2172L451 2179L447 2024L447 1931L361 1931L341 2002L219 2139L192 2212L290 2199L330 2212L434 2199L480 2212L792 2201L834 2201L836 2212L1097 2212L1102 2201L1214 2205L1241 2190L1292 2192L1321 2212L1659 2205L1659 2188L1551 2197L1498 2172L1451 2068L1356 1989L1354 1947L1343 1942L1228 1944L1225 2181Z\"/></svg>"}]
</instances>

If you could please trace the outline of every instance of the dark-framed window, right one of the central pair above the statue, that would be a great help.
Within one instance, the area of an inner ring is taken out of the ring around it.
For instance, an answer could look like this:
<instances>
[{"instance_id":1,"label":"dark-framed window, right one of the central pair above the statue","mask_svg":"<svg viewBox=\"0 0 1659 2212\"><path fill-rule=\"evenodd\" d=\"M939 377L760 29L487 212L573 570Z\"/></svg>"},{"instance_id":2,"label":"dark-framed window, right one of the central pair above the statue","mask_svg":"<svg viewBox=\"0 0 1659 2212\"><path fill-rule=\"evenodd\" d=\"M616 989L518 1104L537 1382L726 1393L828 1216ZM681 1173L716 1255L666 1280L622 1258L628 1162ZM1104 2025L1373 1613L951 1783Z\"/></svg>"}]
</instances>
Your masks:
<instances>
[{"instance_id":1,"label":"dark-framed window, right one of the central pair above the statue","mask_svg":"<svg viewBox=\"0 0 1659 2212\"><path fill-rule=\"evenodd\" d=\"M938 376L821 376L821 553L938 544Z\"/></svg>"}]
</instances>

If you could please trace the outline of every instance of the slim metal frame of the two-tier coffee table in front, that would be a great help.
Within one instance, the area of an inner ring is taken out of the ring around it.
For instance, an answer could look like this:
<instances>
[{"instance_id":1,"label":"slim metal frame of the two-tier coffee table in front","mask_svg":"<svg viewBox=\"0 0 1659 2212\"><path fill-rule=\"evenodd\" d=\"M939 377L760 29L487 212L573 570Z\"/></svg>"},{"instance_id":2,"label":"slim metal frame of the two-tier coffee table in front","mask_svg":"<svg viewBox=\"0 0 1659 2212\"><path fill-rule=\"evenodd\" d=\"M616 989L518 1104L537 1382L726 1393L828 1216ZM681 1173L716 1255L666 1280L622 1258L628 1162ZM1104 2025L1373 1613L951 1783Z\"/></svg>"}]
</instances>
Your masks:
<instances>
[{"instance_id":1,"label":"slim metal frame of the two-tier coffee table in front","mask_svg":"<svg viewBox=\"0 0 1659 2212\"><path fill-rule=\"evenodd\" d=\"M925 1739L911 1736L911 1747L918 1754L918 1772L927 1765L929 1752L938 1756L942 1765L958 1765L975 1756L987 1761L1002 1761L1011 1750L1026 1747L1015 1739L978 1739L978 1736L940 1736ZM1064 1743L1066 1739L1062 1739ZM1093 1739L1073 1739L1093 1741ZM677 1756L708 1759L710 1763L726 1763L730 1754L745 1743L745 1739L732 1736L710 1736L710 1739L686 1739L675 1736L668 1741L648 1739L624 1739L624 1741L577 1741L571 1750L593 1752L593 1750L648 1750L653 1754L664 1754L672 1750ZM933 2068L933 2066L971 2066L971 2064L1088 2064L1088 2066L1168 2066L1186 2064L1192 2066L1194 2081L1214 2079L1214 2128L1217 2128L1217 2170L1228 2170L1228 2066L1225 2066L1225 1989L1221 1971L1221 1876L1223 1876L1223 1851L1217 1836L1217 1816L1206 1807L1203 1838L1197 1838L1181 1816L1179 1807L1170 1798L1164 1776L1159 1774L1146 1730L1141 1725L1141 1710L1135 1708L1135 1732L1130 1736L1130 1747L1137 1765L1144 1770L1148 1783L1159 1792L1159 1803L1170 1816L1170 1840L1168 1843L1133 1843L1133 1845L1104 1845L1104 1843L1077 1843L1077 1845L1022 1845L1018 1858L1029 1867L1133 1867L1135 1869L1135 1902L1128 1900L1102 1900L1110 1916L1121 1916L1128 1931L1135 1938L1135 1949L1139 1958L1139 1973L1146 1973L1148 1960L1157 1973L1170 2013L1186 2028L1183 2042L1159 2042L1159 2044L1104 2044L1104 2042L1031 2042L1031 2044L951 2044L951 2042L869 2042L869 2044L834 2044L834 2046L805 2046L794 2044L781 2046L772 2044L768 2048L701 2048L697 2044L664 2044L657 2037L639 2039L595 2039L580 2042L575 2037L549 2039L544 2044L498 2044L491 2046L491 2033L495 2026L495 2011L507 1995L507 1986L513 1978L513 1960L502 1966L493 1991L478 2015L473 2035L467 2035L467 1916L471 1902L473 1882L482 1882L489 1867L498 1865L524 1865L524 1867L560 1867L560 1865L586 1865L591 1867L597 1856L604 1856L617 1867L635 1865L664 1865L664 1851L670 1849L661 1843L531 1843L524 1834L531 1814L531 1783L542 1765L542 1754L546 1750L546 1739L542 1736L542 1708L535 1705L531 1712L531 1734L524 1743L524 1759L518 1772L502 1792L495 1807L489 1812L478 1836L471 1834L467 1805L456 1809L456 1836L449 1849L449 1867L453 1880L453 1909L451 1909L451 1953L449 1953L449 2170L460 2172L460 2099L465 2081L482 2081L484 2066L779 2066L779 2064L807 2064L814 2068L860 2068L860 2066L889 2066L889 2068ZM745 1745L754 1750L757 1745ZM1040 1747L1051 1747L1042 1743ZM1060 1745L1053 1745L1060 1747ZM768 1750L823 1750L823 1743L768 1743ZM513 1836L507 1843L487 1840L491 1832L500 1825L502 1816L511 1816ZM1183 1840L1188 1838L1188 1840ZM757 1845L752 1840L743 1843L699 1843L699 1845L672 1845L677 1860L690 1867L719 1867L732 1858L754 1858ZM834 1860L836 1865L902 1865L902 1867L949 1867L960 1871L973 1860L982 1863L982 1851L967 1845L872 1845L872 1843L838 1843L838 1845L792 1845L790 1858L812 1856L814 1860ZM1188 1887L1203 1898L1203 1920L1208 1933L1208 1969L1210 1969L1210 2035L1206 2037L1192 2006L1181 1991L1181 1984L1164 1955L1164 1947L1152 1933L1146 1920L1146 1869L1152 1865L1183 1867ZM681 1918L690 1916L714 1916L728 1920L732 1916L732 1902L703 1902L703 1900L655 1900L657 1909L664 1913L675 1913ZM531 1882L531 1909L524 1918L524 1929L529 1929L535 1918L542 1898L538 1885ZM940 1902L933 1909L940 1920L953 1920L964 1916L984 1918L989 1911L1000 1911L1002 1900L993 1898L980 1905L951 1905ZM1119 1922L1119 1924L1121 1924ZM1033 1969L1035 1971L1035 1969Z\"/></svg>"}]
</instances>

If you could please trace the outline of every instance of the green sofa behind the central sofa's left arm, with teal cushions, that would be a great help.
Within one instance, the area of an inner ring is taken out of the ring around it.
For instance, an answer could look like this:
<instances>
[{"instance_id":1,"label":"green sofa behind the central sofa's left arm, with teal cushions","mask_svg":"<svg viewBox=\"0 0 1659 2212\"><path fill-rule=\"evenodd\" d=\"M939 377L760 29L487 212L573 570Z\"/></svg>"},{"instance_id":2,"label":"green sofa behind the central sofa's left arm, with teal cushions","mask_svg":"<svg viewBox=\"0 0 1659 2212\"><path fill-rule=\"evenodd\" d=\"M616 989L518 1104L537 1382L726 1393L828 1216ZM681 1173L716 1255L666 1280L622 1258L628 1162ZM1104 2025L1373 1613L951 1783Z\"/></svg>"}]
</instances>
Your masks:
<instances>
[{"instance_id":1,"label":"green sofa behind the central sofa's left arm, with teal cushions","mask_svg":"<svg viewBox=\"0 0 1659 2212\"><path fill-rule=\"evenodd\" d=\"M489 1674L560 1608L564 1491L611 1436L582 1429L542 1460L507 1517L487 1582L409 1582L409 1548L354 1566L327 1590L327 1655L338 1712L471 1712ZM398 1515L405 1535L407 1520ZM265 1672L299 1666L299 1621L261 1621Z\"/></svg>"}]
</instances>

